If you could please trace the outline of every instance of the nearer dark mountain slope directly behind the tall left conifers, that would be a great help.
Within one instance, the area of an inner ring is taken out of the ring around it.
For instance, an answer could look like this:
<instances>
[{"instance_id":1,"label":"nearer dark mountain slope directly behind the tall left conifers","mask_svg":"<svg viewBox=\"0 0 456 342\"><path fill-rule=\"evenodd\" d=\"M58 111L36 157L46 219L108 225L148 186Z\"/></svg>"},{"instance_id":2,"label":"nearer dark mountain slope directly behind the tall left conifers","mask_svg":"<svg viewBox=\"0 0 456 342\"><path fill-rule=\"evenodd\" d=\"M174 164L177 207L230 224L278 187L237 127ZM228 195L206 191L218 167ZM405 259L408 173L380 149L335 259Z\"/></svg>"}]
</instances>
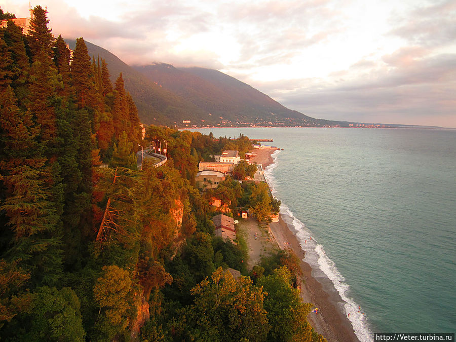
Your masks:
<instances>
[{"instance_id":1,"label":"nearer dark mountain slope directly behind the tall left conifers","mask_svg":"<svg viewBox=\"0 0 456 342\"><path fill-rule=\"evenodd\" d=\"M76 41L66 40L74 50ZM138 108L138 116L144 124L175 125L182 120L196 122L204 116L201 108L170 90L148 80L143 74L124 63L106 49L86 41L89 55L103 58L108 66L110 79L114 84L119 74L125 82L125 89L131 94Z\"/></svg>"}]
</instances>

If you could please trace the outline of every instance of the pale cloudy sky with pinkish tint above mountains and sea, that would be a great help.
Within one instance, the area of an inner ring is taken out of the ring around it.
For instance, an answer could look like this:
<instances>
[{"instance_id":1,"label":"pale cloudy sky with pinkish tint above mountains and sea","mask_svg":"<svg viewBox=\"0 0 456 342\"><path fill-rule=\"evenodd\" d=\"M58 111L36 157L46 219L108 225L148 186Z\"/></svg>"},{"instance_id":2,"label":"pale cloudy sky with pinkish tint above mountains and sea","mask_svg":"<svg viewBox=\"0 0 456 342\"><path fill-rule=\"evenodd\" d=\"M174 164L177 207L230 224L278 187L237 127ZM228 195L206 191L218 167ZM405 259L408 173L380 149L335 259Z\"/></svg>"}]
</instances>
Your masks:
<instances>
[{"instance_id":1,"label":"pale cloudy sky with pinkish tint above mountains and sea","mask_svg":"<svg viewBox=\"0 0 456 342\"><path fill-rule=\"evenodd\" d=\"M42 0L129 65L220 70L308 116L456 128L456 0ZM5 12L29 4L0 0Z\"/></svg>"}]
</instances>

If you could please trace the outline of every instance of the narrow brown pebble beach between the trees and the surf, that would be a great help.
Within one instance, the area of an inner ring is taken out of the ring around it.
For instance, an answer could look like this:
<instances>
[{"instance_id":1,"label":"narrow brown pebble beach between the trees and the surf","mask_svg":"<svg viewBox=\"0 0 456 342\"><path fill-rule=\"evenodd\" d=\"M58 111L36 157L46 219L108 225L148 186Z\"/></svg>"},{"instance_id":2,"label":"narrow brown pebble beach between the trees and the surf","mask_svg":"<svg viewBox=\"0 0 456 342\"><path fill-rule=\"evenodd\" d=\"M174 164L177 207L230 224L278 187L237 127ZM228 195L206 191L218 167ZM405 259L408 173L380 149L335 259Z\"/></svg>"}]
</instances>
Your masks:
<instances>
[{"instance_id":1,"label":"narrow brown pebble beach between the trees and the surf","mask_svg":"<svg viewBox=\"0 0 456 342\"><path fill-rule=\"evenodd\" d=\"M257 156L252 158L252 161L261 164L265 169L274 163L271 155L277 149L255 150ZM341 309L345 301L329 279L323 284L312 276L313 269L309 263L304 261L305 252L301 249L294 227L284 221L281 213L279 213L279 222L270 223L270 227L279 248L290 248L301 260L300 266L304 280L301 286L301 298L305 302L313 303L319 309L318 315L314 313L308 315L308 320L315 331L322 334L328 342L358 342L359 339L355 335L352 323Z\"/></svg>"}]
</instances>

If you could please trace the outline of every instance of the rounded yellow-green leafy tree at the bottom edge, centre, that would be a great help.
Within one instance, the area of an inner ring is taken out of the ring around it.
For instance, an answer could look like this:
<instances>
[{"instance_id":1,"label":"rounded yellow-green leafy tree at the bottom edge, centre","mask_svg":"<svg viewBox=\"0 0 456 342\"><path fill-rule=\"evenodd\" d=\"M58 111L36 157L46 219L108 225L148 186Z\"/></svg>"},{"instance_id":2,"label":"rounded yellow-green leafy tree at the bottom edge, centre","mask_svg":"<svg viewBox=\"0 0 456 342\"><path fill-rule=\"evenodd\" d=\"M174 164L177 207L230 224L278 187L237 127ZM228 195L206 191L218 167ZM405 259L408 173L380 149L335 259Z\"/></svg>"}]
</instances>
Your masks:
<instances>
[{"instance_id":1,"label":"rounded yellow-green leafy tree at the bottom edge, centre","mask_svg":"<svg viewBox=\"0 0 456 342\"><path fill-rule=\"evenodd\" d=\"M194 304L182 311L176 337L191 340L262 341L270 329L264 292L250 278L234 279L218 268L192 289Z\"/></svg>"}]
</instances>

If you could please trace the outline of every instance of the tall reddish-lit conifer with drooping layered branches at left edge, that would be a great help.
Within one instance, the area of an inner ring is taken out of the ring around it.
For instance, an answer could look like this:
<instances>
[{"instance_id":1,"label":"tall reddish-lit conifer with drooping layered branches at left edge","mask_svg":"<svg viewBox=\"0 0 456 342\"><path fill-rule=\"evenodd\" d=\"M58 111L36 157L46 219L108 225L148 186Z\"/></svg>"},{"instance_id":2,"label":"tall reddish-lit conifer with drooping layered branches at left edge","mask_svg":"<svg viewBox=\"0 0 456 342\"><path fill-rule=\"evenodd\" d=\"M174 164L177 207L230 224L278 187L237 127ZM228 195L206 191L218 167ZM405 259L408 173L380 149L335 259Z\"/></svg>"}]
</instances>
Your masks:
<instances>
[{"instance_id":1,"label":"tall reddish-lit conifer with drooping layered branches at left edge","mask_svg":"<svg viewBox=\"0 0 456 342\"><path fill-rule=\"evenodd\" d=\"M0 92L0 167L6 188L0 210L14 234L7 255L31 273L34 284L53 284L61 274L62 245L53 184L46 181L52 178L51 168L36 156L39 125L15 103L10 87Z\"/></svg>"}]
</instances>

